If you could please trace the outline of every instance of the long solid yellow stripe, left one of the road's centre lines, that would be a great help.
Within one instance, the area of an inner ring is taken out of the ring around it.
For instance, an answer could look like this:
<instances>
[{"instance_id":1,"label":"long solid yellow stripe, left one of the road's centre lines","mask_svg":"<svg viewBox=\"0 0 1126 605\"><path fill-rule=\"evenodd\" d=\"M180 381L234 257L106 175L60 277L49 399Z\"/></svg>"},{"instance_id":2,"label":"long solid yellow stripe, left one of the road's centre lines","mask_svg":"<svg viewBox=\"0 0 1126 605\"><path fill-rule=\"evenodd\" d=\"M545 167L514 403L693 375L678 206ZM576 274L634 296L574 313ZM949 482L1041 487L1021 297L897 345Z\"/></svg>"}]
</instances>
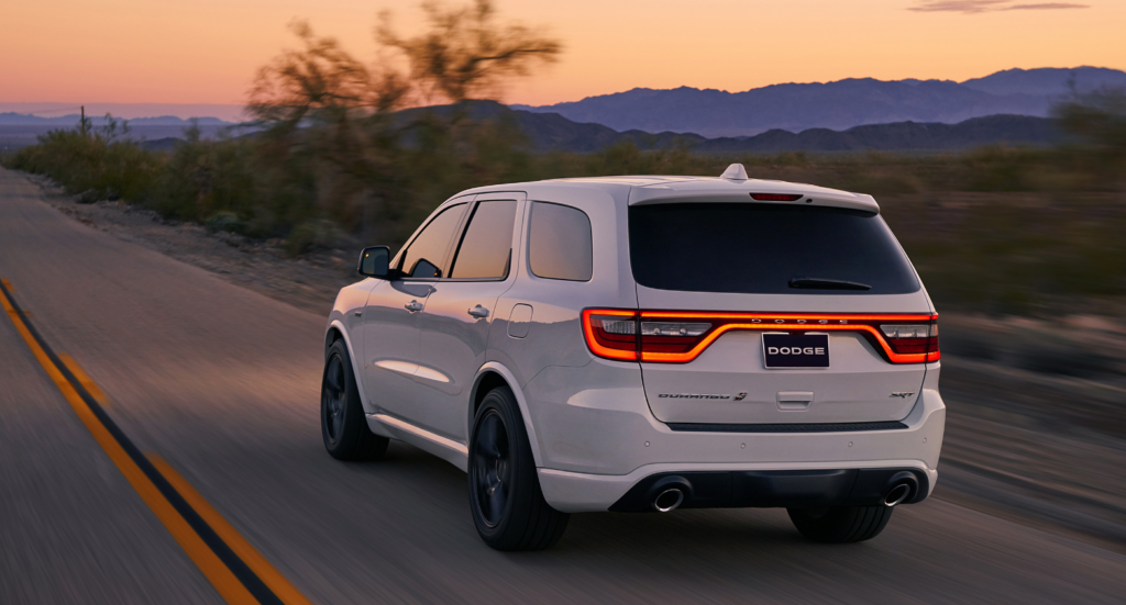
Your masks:
<instances>
[{"instance_id":1,"label":"long solid yellow stripe, left one of the road's centre lines","mask_svg":"<svg viewBox=\"0 0 1126 605\"><path fill-rule=\"evenodd\" d=\"M7 287L7 285L5 286ZM3 292L0 292L0 302L3 304L5 310L8 311L8 317L11 318L24 342L32 350L32 354L35 355L35 359L43 365L47 376L51 377L51 380L62 391L63 397L71 405L71 408L74 409L74 413L78 414L82 424L86 425L87 431L93 435L93 439L101 445L106 454L109 455L117 470L122 471L122 475L125 476L125 479L133 486L133 489L141 496L141 499L149 505L149 508L157 515L157 518L164 524L164 527L172 534L177 543L180 544L184 552L191 558L196 567L212 583L215 590L231 605L257 604L258 601L207 547L199 538L199 534L188 525L188 522L172 507L171 503L168 502L157 486L145 476L144 471L122 449L117 440L98 421L90 407L82 400L78 391L74 390L74 387L71 386L62 372L59 371L59 368L51 361L51 358L47 356L46 351L36 342L30 331L24 324L19 313L16 311Z\"/></svg>"}]
</instances>

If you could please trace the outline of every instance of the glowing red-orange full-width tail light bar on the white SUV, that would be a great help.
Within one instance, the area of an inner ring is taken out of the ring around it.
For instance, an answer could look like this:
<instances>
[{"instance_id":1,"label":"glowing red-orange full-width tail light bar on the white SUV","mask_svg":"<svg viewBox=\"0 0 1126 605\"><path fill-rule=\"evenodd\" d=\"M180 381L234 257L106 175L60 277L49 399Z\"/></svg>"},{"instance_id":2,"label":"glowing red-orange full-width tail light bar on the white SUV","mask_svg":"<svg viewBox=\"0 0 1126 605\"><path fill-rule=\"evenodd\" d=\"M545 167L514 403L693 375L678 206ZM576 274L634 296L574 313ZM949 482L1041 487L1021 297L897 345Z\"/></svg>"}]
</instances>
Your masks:
<instances>
[{"instance_id":1,"label":"glowing red-orange full-width tail light bar on the white SUV","mask_svg":"<svg viewBox=\"0 0 1126 605\"><path fill-rule=\"evenodd\" d=\"M938 315L804 315L587 309L590 352L619 361L687 363L732 331L858 332L892 363L938 361Z\"/></svg>"}]
</instances>

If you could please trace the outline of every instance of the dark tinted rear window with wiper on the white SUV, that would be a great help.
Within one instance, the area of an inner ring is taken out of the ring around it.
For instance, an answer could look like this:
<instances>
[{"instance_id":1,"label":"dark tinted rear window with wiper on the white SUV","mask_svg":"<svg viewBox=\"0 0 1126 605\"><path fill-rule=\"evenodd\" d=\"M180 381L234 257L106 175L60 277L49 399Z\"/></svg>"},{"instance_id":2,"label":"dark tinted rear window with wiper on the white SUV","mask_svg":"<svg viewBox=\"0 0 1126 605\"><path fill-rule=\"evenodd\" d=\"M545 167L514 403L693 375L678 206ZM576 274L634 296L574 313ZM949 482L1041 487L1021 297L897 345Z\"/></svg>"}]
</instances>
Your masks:
<instances>
[{"instance_id":1,"label":"dark tinted rear window with wiper on the white SUV","mask_svg":"<svg viewBox=\"0 0 1126 605\"><path fill-rule=\"evenodd\" d=\"M629 262L637 283L660 290L892 295L920 287L884 219L848 208L631 206Z\"/></svg>"}]
</instances>

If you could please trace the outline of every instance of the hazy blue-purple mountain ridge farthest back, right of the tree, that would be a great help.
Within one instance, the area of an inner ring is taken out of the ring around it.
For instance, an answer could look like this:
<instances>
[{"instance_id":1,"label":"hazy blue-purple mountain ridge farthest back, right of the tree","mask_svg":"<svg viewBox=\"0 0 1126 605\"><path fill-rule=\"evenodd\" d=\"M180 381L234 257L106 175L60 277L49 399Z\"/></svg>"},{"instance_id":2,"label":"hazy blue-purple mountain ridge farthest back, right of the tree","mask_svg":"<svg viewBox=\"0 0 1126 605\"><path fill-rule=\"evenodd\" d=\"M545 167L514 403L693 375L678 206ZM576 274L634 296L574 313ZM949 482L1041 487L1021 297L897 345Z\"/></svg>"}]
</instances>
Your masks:
<instances>
[{"instance_id":1,"label":"hazy blue-purple mountain ridge farthest back, right of the tree","mask_svg":"<svg viewBox=\"0 0 1126 605\"><path fill-rule=\"evenodd\" d=\"M1008 70L949 80L849 79L829 83L776 84L745 92L633 89L543 107L512 106L558 114L578 123L616 130L695 133L707 137L752 136L771 129L848 129L900 121L956 124L1010 114L1047 116L1074 76L1080 90L1126 87L1126 72L1103 67Z\"/></svg>"}]
</instances>

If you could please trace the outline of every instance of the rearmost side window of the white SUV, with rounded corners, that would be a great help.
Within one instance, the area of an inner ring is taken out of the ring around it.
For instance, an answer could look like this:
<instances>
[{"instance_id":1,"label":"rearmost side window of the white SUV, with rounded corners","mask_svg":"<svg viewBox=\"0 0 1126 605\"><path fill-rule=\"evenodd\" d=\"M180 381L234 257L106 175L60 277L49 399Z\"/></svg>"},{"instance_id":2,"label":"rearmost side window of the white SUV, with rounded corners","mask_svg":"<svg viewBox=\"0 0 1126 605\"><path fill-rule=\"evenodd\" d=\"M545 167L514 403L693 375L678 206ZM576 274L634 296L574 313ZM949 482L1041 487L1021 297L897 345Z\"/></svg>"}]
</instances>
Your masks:
<instances>
[{"instance_id":1,"label":"rearmost side window of the white SUV, with rounded corners","mask_svg":"<svg viewBox=\"0 0 1126 605\"><path fill-rule=\"evenodd\" d=\"M536 277L589 281L593 256L587 213L558 204L531 204L528 262Z\"/></svg>"}]
</instances>

